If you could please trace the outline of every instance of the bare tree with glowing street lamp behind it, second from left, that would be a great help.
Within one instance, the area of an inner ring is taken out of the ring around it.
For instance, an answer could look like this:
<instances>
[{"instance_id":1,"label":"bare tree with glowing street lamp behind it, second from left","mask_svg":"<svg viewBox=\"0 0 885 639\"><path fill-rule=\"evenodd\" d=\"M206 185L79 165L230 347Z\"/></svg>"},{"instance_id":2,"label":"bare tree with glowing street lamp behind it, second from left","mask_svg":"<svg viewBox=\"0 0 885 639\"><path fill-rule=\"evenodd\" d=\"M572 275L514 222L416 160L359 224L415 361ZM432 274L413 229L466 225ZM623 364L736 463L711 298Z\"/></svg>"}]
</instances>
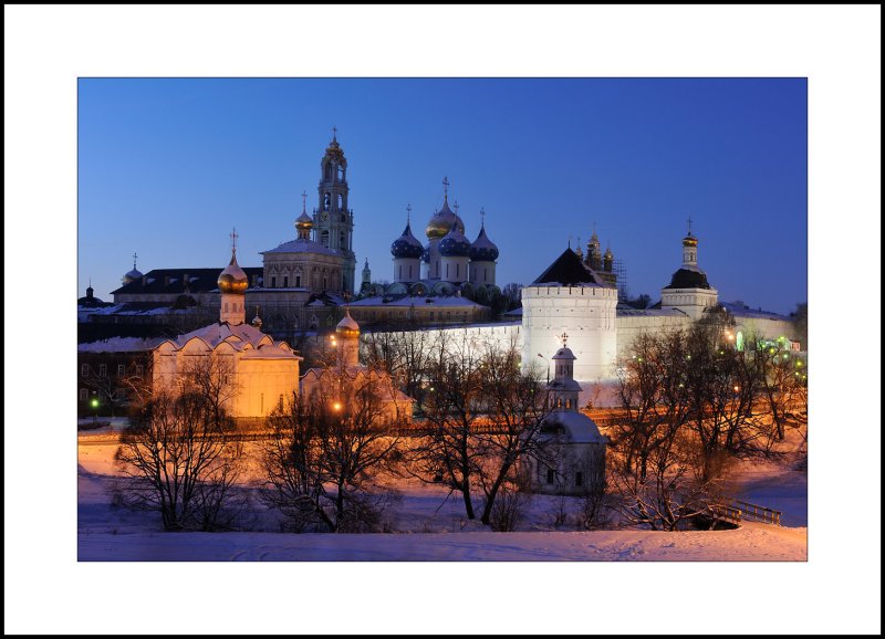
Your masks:
<instances>
[{"instance_id":1,"label":"bare tree with glowing street lamp behind it, second from left","mask_svg":"<svg viewBox=\"0 0 885 639\"><path fill-rule=\"evenodd\" d=\"M394 503L374 478L397 451L395 388L378 371L330 366L306 397L293 394L269 418L262 496L296 532L377 530Z\"/></svg>"}]
</instances>

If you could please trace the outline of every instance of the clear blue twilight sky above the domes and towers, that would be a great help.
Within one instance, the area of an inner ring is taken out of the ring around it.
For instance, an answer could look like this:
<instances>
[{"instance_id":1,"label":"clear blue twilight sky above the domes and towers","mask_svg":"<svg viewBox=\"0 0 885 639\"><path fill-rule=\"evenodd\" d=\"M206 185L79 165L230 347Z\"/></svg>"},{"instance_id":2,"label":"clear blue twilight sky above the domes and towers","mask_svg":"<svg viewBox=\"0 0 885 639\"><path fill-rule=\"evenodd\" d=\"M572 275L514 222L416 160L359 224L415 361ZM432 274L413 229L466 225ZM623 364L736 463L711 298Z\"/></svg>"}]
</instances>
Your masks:
<instances>
[{"instance_id":1,"label":"clear blue twilight sky above the domes and towers","mask_svg":"<svg viewBox=\"0 0 885 639\"><path fill-rule=\"evenodd\" d=\"M357 282L450 201L479 210L498 283L530 283L596 230L631 295L659 300L686 219L722 301L789 313L808 293L804 78L79 81L79 291L111 301L138 269L241 265L295 238L336 126Z\"/></svg>"}]
</instances>

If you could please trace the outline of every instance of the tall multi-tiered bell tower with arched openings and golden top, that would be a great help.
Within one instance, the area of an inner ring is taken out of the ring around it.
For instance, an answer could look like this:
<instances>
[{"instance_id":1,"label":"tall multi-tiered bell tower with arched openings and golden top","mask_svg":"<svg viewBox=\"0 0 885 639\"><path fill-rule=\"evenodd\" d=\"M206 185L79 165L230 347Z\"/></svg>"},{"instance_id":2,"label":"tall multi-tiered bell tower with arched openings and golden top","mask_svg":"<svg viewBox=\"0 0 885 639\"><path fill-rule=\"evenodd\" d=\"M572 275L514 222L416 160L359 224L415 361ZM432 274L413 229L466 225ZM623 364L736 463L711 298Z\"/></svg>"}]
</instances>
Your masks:
<instances>
[{"instance_id":1,"label":"tall multi-tiered bell tower with arched openings and golden top","mask_svg":"<svg viewBox=\"0 0 885 639\"><path fill-rule=\"evenodd\" d=\"M314 240L344 258L342 281L344 293L354 292L356 256L353 252L353 210L347 208L347 159L332 127L332 142L320 160L319 207L313 210Z\"/></svg>"}]
</instances>

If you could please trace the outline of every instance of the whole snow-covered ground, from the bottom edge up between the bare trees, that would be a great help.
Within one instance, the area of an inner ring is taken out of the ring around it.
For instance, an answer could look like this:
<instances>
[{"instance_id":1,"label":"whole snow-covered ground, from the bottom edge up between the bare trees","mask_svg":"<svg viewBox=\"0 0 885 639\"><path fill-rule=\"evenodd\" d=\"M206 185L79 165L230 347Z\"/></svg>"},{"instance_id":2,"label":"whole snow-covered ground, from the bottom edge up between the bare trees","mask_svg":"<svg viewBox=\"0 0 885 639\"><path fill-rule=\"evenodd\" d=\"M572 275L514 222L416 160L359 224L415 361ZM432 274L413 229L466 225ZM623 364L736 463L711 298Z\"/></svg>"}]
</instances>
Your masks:
<instances>
[{"instance_id":1,"label":"whole snow-covered ground, from the bottom edge up between the bare trees","mask_svg":"<svg viewBox=\"0 0 885 639\"><path fill-rule=\"evenodd\" d=\"M116 426L116 425L115 425ZM79 451L80 561L805 561L805 473L777 463L742 464L735 494L783 511L784 526L745 523L733 531L580 532L579 501L534 495L513 533L489 532L464 516L464 504L438 485L389 481L402 501L386 534L279 533L273 511L253 501L256 532L166 533L155 513L111 503L112 433L82 433ZM254 470L254 469L253 469ZM477 506L479 504L476 504ZM554 526L554 512L569 513ZM795 527L794 527L795 526Z\"/></svg>"}]
</instances>

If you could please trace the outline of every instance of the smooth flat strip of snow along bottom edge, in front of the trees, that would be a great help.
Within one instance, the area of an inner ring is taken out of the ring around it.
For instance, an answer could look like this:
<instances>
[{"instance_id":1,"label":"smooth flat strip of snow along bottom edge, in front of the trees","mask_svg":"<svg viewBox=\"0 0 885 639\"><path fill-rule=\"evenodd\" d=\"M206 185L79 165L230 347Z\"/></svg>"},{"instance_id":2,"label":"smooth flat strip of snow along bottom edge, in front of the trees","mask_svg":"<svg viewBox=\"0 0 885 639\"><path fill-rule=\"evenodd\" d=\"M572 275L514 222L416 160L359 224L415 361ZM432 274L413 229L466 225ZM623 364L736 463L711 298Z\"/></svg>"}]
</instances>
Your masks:
<instances>
[{"instance_id":1,"label":"smooth flat strip of snow along bottom edge, in front of the trees","mask_svg":"<svg viewBox=\"0 0 885 639\"><path fill-rule=\"evenodd\" d=\"M79 535L81 562L600 562L805 561L805 528L650 533Z\"/></svg>"}]
</instances>

